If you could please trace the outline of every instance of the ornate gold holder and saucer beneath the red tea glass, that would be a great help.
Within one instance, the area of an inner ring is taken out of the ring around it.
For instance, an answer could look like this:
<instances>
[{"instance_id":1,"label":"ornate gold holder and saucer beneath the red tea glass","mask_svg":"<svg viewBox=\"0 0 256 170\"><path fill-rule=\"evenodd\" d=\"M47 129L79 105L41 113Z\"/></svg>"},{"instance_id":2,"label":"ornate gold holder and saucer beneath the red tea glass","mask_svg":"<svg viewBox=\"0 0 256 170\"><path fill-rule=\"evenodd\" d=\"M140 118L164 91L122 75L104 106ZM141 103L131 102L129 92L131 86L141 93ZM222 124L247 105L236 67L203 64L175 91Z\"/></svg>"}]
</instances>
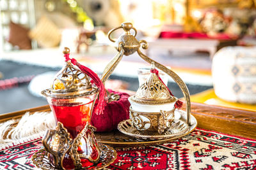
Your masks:
<instances>
[{"instance_id":1,"label":"ornate gold holder and saucer beneath the red tea glass","mask_svg":"<svg viewBox=\"0 0 256 170\"><path fill-rule=\"evenodd\" d=\"M55 130L49 130L45 134L42 139L45 148L33 155L33 163L42 169L66 169L64 162L66 161L65 164L70 164L70 161L65 160L70 157L75 169L108 166L116 159L116 151L106 145L98 146L93 134L95 130L95 127L87 122L84 129L77 134L76 138L72 139L63 124L58 122ZM85 139L86 153L92 152L93 149L99 152L96 158L93 159L90 154L86 155L79 151L79 148L83 147L81 146L81 138ZM92 146L93 148L90 148ZM92 164L84 167L81 159L88 159Z\"/></svg>"}]
</instances>

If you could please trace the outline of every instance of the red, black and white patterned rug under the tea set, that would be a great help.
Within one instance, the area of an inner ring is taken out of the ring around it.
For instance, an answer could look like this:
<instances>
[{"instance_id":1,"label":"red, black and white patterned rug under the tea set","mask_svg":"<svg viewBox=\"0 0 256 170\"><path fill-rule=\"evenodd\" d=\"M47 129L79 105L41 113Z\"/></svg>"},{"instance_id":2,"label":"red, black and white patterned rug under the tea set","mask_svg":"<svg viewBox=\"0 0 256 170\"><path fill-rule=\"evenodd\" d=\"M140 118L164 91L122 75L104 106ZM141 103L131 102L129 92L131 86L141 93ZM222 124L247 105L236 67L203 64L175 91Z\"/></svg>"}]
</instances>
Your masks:
<instances>
[{"instance_id":1,"label":"red, black and white patterned rug under the tea set","mask_svg":"<svg viewBox=\"0 0 256 170\"><path fill-rule=\"evenodd\" d=\"M36 169L31 157L41 148L35 139L0 150L0 169ZM256 169L256 140L202 129L164 145L116 151L107 169Z\"/></svg>"}]
</instances>

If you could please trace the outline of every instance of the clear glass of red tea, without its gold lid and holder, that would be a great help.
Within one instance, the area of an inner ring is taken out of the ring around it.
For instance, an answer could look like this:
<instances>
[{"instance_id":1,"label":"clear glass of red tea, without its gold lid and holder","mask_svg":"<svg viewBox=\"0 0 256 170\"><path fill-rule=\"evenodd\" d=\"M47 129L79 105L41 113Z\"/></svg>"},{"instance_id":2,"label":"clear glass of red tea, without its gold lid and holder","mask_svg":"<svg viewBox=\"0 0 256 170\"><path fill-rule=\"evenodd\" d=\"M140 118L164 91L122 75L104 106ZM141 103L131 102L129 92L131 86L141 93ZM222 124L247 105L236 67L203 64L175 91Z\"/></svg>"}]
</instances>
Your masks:
<instances>
[{"instance_id":1,"label":"clear glass of red tea, without its gold lid and holder","mask_svg":"<svg viewBox=\"0 0 256 170\"><path fill-rule=\"evenodd\" d=\"M73 98L47 97L56 124L57 122L61 122L73 140L84 129L87 122L90 123L95 97L96 93ZM92 160L97 160L100 155L100 151L97 148L97 141L92 137L92 133L91 129L88 129L86 135L81 138L77 148L79 155L82 155L80 159L83 167L90 167L95 163L87 159L88 157L91 157ZM88 141L88 138L94 141ZM53 141L52 145L54 144L58 146L58 141ZM63 167L65 169L74 169L72 158L68 153L63 159Z\"/></svg>"}]
</instances>

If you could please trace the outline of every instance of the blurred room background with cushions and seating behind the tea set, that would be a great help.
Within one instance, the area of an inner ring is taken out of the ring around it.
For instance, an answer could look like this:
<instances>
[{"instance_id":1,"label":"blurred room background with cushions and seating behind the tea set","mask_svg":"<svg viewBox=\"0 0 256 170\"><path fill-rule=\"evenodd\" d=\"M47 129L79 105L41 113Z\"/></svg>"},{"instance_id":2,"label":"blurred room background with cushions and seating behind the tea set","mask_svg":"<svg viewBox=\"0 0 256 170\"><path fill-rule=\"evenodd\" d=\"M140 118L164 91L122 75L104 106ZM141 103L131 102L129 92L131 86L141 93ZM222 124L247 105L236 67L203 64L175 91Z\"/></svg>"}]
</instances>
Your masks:
<instances>
[{"instance_id":1,"label":"blurred room background with cushions and seating behind the tea set","mask_svg":"<svg viewBox=\"0 0 256 170\"><path fill-rule=\"evenodd\" d=\"M108 31L122 22L179 74L192 101L255 110L255 0L0 0L0 12L0 113L47 104L40 91L65 64L65 46L102 74L116 54ZM136 91L148 66L124 56L106 88ZM171 78L168 87L183 97Z\"/></svg>"}]
</instances>

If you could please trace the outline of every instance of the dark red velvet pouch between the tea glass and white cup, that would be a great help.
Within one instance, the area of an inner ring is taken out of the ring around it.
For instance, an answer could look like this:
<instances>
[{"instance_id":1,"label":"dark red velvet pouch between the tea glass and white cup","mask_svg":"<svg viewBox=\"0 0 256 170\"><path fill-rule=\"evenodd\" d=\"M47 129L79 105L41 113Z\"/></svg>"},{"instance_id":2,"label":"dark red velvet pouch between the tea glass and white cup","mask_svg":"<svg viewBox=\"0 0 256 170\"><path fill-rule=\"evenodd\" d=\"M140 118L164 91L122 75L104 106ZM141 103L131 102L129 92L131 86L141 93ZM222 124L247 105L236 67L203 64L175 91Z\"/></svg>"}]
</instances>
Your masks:
<instances>
[{"instance_id":1,"label":"dark red velvet pouch between the tea glass and white cup","mask_svg":"<svg viewBox=\"0 0 256 170\"><path fill-rule=\"evenodd\" d=\"M107 103L104 108L103 114L95 114L94 110L92 113L92 125L97 128L97 132L109 132L117 128L119 122L129 118L129 107L128 101L129 94L123 92L115 92L108 89L110 93L115 93L120 96L118 101L111 101ZM97 105L97 101L95 106Z\"/></svg>"}]
</instances>

